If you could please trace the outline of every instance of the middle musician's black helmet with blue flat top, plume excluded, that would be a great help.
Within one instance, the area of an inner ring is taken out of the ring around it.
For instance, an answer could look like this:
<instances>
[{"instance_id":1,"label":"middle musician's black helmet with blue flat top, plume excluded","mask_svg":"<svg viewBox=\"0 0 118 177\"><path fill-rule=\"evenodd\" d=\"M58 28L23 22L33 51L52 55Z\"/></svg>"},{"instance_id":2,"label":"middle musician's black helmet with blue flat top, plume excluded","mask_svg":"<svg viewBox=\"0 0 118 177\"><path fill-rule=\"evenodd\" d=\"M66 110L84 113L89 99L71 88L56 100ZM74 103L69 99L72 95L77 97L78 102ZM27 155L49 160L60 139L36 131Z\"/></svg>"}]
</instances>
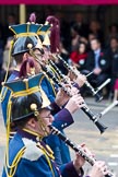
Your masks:
<instances>
[{"instance_id":1,"label":"middle musician's black helmet with blue flat top, plume excluded","mask_svg":"<svg viewBox=\"0 0 118 177\"><path fill-rule=\"evenodd\" d=\"M40 24L32 23L10 26L10 30L14 32L14 43L11 55L15 56L35 48L42 51L43 45L38 35L36 34L40 27Z\"/></svg>"}]
</instances>

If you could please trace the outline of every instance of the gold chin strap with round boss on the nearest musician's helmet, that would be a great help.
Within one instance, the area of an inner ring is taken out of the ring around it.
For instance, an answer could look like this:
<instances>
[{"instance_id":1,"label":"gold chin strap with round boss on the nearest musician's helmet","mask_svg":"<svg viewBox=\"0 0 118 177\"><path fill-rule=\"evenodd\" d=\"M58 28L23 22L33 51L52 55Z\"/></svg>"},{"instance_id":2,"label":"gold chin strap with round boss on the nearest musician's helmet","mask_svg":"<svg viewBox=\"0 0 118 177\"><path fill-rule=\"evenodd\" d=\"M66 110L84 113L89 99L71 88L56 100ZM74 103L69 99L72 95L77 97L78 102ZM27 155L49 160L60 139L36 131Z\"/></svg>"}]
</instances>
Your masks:
<instances>
[{"instance_id":1,"label":"gold chin strap with round boss on the nearest musician's helmet","mask_svg":"<svg viewBox=\"0 0 118 177\"><path fill-rule=\"evenodd\" d=\"M32 105L31 105L31 109L34 111L34 115L35 115L35 117L37 118L38 125L39 125L39 127L42 128L42 130L43 130L43 132L44 132L44 137L47 137L49 133L48 133L48 131L46 130L46 126L45 126L43 119L42 119L40 116L39 116L39 111L38 111L38 109L37 109L37 105L36 105L36 104L32 104Z\"/></svg>"}]
</instances>

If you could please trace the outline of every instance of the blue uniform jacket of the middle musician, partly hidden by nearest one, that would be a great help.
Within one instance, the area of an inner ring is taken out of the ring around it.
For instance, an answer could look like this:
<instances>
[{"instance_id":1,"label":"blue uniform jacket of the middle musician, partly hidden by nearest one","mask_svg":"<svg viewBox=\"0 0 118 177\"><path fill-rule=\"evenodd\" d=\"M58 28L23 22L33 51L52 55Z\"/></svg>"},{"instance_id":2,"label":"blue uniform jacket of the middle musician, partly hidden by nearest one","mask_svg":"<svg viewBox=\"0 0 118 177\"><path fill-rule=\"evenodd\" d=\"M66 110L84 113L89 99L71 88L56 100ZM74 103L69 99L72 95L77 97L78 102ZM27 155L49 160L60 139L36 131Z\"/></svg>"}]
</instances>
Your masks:
<instances>
[{"instance_id":1,"label":"blue uniform jacket of the middle musician, partly hidden by nearest one","mask_svg":"<svg viewBox=\"0 0 118 177\"><path fill-rule=\"evenodd\" d=\"M14 70L8 81L12 81L17 76L19 76L19 71ZM45 91L46 95L48 96L49 101L54 102L55 91L54 91L52 85L49 83L49 80L46 76L44 76L42 80L42 87ZM7 125L7 109L8 109L8 102L10 98L10 94L11 94L11 91L8 90L7 87L3 87L3 92L1 95L2 96L1 108L2 108L4 125ZM56 104L52 104L52 107L55 109L55 114L60 110L60 108ZM71 123L73 123L72 117L71 118L69 117L71 117L71 115L68 110L66 109L61 110L60 113L55 115L55 121L52 126L56 126L59 130L61 130L61 128L63 129L66 127L69 127ZM71 161L68 146L64 144L64 142L59 140L57 135L49 135L46 142L51 146L58 165L61 165L63 163L68 163Z\"/></svg>"}]
</instances>

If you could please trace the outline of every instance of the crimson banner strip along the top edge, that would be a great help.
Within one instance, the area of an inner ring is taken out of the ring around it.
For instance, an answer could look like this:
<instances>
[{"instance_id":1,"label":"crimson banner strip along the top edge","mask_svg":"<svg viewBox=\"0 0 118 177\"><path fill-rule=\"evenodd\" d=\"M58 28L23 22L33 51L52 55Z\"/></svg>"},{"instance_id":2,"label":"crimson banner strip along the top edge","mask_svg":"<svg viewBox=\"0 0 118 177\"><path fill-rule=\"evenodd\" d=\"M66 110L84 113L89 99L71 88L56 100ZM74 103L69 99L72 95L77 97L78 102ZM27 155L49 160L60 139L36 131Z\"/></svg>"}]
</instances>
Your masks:
<instances>
[{"instance_id":1,"label":"crimson banner strip along the top edge","mask_svg":"<svg viewBox=\"0 0 118 177\"><path fill-rule=\"evenodd\" d=\"M118 0L0 0L0 4L83 4L83 5L94 5L94 4L118 4Z\"/></svg>"}]
</instances>

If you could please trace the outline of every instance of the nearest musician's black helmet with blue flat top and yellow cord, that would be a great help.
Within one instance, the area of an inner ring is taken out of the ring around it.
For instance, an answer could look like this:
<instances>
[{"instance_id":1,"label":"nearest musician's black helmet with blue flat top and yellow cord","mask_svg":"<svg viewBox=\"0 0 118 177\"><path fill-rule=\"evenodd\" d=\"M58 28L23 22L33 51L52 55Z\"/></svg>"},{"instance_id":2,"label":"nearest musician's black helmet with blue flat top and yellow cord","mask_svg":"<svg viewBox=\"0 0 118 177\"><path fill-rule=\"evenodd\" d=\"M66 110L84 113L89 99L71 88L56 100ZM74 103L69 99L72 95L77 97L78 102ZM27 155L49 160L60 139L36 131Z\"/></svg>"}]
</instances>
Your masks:
<instances>
[{"instance_id":1,"label":"nearest musician's black helmet with blue flat top and yellow cord","mask_svg":"<svg viewBox=\"0 0 118 177\"><path fill-rule=\"evenodd\" d=\"M42 108L47 108L50 104L44 95L39 83L43 74L33 75L25 79L17 79L8 82L4 85L12 91L11 98L11 122L36 117L36 111Z\"/></svg>"}]
</instances>

